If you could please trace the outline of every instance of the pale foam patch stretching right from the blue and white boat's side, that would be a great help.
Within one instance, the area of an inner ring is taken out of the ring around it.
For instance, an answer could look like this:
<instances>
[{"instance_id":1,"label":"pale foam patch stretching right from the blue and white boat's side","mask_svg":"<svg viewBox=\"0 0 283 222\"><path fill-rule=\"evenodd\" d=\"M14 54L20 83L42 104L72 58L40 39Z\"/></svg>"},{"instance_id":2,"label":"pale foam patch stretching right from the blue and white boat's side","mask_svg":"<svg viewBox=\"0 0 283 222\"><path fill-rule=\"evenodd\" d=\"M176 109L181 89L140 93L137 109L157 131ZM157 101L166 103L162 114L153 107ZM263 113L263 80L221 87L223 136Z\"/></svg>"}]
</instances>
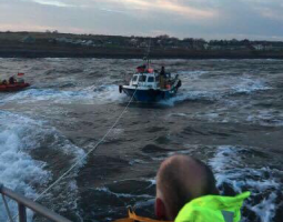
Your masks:
<instances>
[{"instance_id":1,"label":"pale foam patch stretching right from the blue and white boat's side","mask_svg":"<svg viewBox=\"0 0 283 222\"><path fill-rule=\"evenodd\" d=\"M251 75L229 75L221 79L201 79L206 71L180 72L182 74L182 87L175 97L162 101L168 105L186 100L210 100L215 101L237 93L250 94L256 91L272 89L267 82L261 78Z\"/></svg>"}]
</instances>

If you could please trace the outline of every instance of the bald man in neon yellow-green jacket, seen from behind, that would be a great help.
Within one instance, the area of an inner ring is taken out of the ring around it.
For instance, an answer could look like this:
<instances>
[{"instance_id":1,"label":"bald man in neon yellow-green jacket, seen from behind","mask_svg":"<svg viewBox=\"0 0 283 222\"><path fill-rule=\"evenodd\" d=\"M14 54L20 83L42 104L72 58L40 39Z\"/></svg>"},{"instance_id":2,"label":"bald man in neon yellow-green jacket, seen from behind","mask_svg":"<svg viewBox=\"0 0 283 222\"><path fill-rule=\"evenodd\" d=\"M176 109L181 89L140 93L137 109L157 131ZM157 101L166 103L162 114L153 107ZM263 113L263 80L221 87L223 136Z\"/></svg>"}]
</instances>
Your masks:
<instances>
[{"instance_id":1,"label":"bald man in neon yellow-green jacket, seen from behind","mask_svg":"<svg viewBox=\"0 0 283 222\"><path fill-rule=\"evenodd\" d=\"M175 222L239 222L250 196L222 196L208 165L186 155L164 160L156 175L155 214Z\"/></svg>"}]
</instances>

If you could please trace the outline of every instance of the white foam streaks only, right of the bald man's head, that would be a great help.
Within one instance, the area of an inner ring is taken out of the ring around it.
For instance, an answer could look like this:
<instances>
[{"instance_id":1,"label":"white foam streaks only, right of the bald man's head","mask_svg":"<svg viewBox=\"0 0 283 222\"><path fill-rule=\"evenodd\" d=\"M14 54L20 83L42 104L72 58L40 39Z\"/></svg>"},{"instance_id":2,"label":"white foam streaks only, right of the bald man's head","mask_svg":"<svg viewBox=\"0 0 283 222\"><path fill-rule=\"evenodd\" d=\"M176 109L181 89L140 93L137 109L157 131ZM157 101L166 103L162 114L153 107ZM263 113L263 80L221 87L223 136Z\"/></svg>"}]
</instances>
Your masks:
<instances>
[{"instance_id":1,"label":"white foam streaks only, right of the bald man's head","mask_svg":"<svg viewBox=\"0 0 283 222\"><path fill-rule=\"evenodd\" d=\"M243 151L246 150L237 147L220 145L209 163L215 172L218 186L226 183L237 193L249 189L252 192L251 200L256 195L270 193L260 203L245 202L245 206L253 211L261 222L270 222L276 211L275 192L281 189L282 184L279 179L264 179L264 175L272 174L273 171L270 168L253 169L245 164L241 155Z\"/></svg>"}]
</instances>

